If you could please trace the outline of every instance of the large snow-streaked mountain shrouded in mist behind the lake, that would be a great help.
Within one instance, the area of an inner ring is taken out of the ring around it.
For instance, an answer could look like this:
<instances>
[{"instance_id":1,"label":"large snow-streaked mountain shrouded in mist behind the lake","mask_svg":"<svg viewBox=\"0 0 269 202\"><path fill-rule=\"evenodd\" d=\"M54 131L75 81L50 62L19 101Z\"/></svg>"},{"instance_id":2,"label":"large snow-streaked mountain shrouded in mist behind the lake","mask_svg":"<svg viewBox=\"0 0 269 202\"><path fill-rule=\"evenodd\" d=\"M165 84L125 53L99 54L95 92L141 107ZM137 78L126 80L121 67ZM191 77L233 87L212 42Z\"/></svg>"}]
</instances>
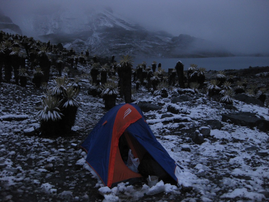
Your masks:
<instances>
[{"instance_id":1,"label":"large snow-streaked mountain shrouded in mist behind the lake","mask_svg":"<svg viewBox=\"0 0 269 202\"><path fill-rule=\"evenodd\" d=\"M76 52L89 50L90 55L148 57L219 57L231 56L213 42L180 34L174 37L160 31L150 32L123 20L111 9L78 13L57 8L49 13L24 16L24 27L41 41L62 43Z\"/></svg>"}]
</instances>

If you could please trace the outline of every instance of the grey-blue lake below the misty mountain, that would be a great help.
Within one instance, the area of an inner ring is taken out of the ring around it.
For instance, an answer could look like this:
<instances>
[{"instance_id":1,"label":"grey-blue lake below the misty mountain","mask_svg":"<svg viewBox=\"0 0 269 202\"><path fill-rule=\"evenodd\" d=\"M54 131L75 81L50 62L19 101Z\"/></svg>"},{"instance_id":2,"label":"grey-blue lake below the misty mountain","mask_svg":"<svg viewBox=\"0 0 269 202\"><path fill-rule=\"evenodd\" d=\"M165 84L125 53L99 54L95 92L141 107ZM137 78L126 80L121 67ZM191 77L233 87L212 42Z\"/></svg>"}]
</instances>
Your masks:
<instances>
[{"instance_id":1,"label":"grey-blue lake below the misty mountain","mask_svg":"<svg viewBox=\"0 0 269 202\"><path fill-rule=\"evenodd\" d=\"M147 67L153 61L162 64L162 69L168 72L168 68L175 68L176 63L181 61L184 64L184 70L190 67L190 64L198 65L197 68L204 67L206 70L224 70L224 69L245 69L251 67L269 66L269 57L214 57L214 58L134 58L133 68L143 61L147 62Z\"/></svg>"}]
</instances>

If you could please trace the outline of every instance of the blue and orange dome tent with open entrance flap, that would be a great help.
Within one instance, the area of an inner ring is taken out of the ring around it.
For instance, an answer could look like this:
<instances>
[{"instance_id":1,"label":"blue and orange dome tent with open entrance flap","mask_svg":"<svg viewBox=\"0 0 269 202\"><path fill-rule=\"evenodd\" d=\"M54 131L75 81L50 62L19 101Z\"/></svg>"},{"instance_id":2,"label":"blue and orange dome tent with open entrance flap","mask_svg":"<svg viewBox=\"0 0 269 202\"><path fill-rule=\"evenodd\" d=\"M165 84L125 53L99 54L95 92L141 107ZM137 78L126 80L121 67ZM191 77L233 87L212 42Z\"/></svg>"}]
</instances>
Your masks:
<instances>
[{"instance_id":1,"label":"blue and orange dome tent with open entrance flap","mask_svg":"<svg viewBox=\"0 0 269 202\"><path fill-rule=\"evenodd\" d=\"M147 170L157 173L160 179L169 176L178 182L177 173L181 172L181 166L156 140L142 111L135 104L123 103L109 110L81 147L87 152L86 162L105 186L137 182L143 179L142 175L148 174ZM130 149L134 158L139 158L139 172L126 165Z\"/></svg>"}]
</instances>

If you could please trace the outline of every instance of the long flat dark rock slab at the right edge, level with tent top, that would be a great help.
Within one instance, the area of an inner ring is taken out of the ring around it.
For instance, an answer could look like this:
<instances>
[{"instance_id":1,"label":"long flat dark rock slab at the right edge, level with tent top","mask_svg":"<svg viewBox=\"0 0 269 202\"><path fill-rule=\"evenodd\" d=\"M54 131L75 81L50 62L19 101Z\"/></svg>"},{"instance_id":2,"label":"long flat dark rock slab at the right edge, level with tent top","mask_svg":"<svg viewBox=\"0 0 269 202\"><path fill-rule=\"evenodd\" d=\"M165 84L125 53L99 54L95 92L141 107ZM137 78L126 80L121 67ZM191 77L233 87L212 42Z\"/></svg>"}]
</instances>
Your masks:
<instances>
[{"instance_id":1,"label":"long flat dark rock slab at the right edge, level with tent top","mask_svg":"<svg viewBox=\"0 0 269 202\"><path fill-rule=\"evenodd\" d=\"M248 116L242 113L239 114L222 114L222 121L231 121L235 125L246 127L257 127L261 131L269 131L269 120L261 119L256 116Z\"/></svg>"}]
</instances>

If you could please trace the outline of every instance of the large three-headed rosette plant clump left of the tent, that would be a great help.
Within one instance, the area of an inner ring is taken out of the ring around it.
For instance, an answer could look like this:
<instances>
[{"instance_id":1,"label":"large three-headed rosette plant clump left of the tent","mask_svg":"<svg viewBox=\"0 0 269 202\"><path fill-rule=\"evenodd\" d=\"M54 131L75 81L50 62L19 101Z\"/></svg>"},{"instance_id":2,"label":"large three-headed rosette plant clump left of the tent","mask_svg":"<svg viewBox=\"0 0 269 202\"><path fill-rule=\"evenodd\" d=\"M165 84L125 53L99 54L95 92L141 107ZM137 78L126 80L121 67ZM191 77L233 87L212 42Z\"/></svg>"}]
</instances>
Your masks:
<instances>
[{"instance_id":1,"label":"large three-headed rosette plant clump left of the tent","mask_svg":"<svg viewBox=\"0 0 269 202\"><path fill-rule=\"evenodd\" d=\"M38 108L40 111L37 116L41 118L41 133L65 135L71 131L75 123L77 108L80 105L79 100L76 99L79 89L73 90L70 80L67 80L65 76L57 77L54 83L56 86L47 90L48 95L43 93L43 109Z\"/></svg>"}]
</instances>

